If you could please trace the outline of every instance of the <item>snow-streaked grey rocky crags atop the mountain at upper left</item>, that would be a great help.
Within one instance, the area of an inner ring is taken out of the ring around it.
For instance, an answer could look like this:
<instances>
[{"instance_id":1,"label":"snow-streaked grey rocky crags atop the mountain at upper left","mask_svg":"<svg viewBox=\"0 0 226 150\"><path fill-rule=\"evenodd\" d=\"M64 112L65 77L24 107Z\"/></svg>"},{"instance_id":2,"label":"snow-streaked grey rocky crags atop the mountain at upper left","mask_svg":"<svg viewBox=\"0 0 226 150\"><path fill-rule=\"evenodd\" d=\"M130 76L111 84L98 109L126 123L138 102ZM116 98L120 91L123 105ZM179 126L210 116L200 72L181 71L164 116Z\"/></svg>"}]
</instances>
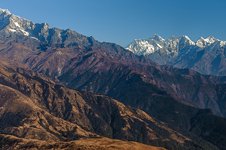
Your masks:
<instances>
[{"instance_id":1,"label":"snow-streaked grey rocky crags atop the mountain at upper left","mask_svg":"<svg viewBox=\"0 0 226 150\"><path fill-rule=\"evenodd\" d=\"M95 41L91 41L90 38L70 29L50 28L47 23L33 23L10 13L8 10L0 9L0 40L7 41L9 37L15 41L32 43L36 45L34 47L41 50L47 50L52 46L74 47L81 45L81 47L86 47Z\"/></svg>"}]
</instances>

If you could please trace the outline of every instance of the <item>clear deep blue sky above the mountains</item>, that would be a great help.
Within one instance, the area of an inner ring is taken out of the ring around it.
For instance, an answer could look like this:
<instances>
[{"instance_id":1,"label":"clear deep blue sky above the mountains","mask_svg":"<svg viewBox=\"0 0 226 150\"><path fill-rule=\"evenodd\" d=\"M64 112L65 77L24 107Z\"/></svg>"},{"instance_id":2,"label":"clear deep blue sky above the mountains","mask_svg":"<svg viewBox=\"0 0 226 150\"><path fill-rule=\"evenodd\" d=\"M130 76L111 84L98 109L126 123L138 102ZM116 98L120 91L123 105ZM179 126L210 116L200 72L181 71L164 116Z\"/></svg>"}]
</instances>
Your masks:
<instances>
[{"instance_id":1,"label":"clear deep blue sky above the mountains","mask_svg":"<svg viewBox=\"0 0 226 150\"><path fill-rule=\"evenodd\" d=\"M0 0L0 8L34 22L70 28L126 46L159 34L226 40L226 0Z\"/></svg>"}]
</instances>

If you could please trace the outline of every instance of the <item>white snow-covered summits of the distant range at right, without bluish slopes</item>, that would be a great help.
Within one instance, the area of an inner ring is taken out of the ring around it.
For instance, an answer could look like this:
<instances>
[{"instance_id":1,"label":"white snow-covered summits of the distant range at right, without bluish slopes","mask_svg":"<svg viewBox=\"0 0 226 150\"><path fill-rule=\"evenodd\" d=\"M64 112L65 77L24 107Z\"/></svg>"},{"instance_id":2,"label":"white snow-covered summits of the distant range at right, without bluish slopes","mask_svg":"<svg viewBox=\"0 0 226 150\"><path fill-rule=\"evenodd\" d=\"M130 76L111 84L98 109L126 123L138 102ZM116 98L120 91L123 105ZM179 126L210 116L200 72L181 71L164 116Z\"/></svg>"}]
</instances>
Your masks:
<instances>
[{"instance_id":1,"label":"white snow-covered summits of the distant range at right, without bluish slopes","mask_svg":"<svg viewBox=\"0 0 226 150\"><path fill-rule=\"evenodd\" d=\"M199 40L194 42L186 35L164 39L155 34L152 38L135 40L128 45L127 49L137 55L150 55L158 52L175 56L180 49L190 46L205 48L216 42L220 43L221 47L226 45L225 41L220 41L213 36L208 36L207 38L201 37Z\"/></svg>"}]
</instances>

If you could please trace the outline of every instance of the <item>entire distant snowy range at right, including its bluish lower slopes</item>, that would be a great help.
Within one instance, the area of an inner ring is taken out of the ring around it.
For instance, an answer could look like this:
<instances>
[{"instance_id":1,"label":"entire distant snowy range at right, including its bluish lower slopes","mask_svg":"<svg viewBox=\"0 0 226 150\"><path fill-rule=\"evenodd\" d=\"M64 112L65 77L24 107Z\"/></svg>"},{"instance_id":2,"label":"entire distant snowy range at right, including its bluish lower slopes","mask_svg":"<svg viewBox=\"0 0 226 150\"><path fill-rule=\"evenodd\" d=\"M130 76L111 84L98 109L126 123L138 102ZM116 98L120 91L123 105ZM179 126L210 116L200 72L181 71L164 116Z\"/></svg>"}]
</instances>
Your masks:
<instances>
[{"instance_id":1,"label":"entire distant snowy range at right, including its bluish lower slopes","mask_svg":"<svg viewBox=\"0 0 226 150\"><path fill-rule=\"evenodd\" d=\"M226 75L226 41L209 36L196 42L188 36L163 39L158 35L134 40L127 49L160 65L189 68L208 75Z\"/></svg>"}]
</instances>

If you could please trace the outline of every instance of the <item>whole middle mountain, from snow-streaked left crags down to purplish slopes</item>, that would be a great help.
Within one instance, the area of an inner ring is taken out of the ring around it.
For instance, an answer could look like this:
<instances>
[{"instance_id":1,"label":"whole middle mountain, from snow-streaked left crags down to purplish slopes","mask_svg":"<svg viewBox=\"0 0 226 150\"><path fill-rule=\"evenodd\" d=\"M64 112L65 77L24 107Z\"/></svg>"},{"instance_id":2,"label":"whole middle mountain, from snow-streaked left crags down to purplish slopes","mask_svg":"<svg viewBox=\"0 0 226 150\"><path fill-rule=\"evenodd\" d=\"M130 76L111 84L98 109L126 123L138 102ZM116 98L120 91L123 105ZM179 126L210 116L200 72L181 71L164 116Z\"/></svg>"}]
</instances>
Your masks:
<instances>
[{"instance_id":1,"label":"whole middle mountain, from snow-streaked left crags down to purplish slopes","mask_svg":"<svg viewBox=\"0 0 226 150\"><path fill-rule=\"evenodd\" d=\"M7 12L1 16L4 26L0 31L0 57L12 64L26 65L73 88L115 98L121 98L119 92L128 89L127 80L136 76L142 84L150 84L179 102L226 115L225 105L221 105L224 93L219 98L222 90L218 91L219 86L224 87L224 77L160 67L116 44L100 43L71 30L49 28L47 24L34 24ZM182 41L192 43L186 37ZM180 47L186 46L179 43Z\"/></svg>"}]
</instances>

